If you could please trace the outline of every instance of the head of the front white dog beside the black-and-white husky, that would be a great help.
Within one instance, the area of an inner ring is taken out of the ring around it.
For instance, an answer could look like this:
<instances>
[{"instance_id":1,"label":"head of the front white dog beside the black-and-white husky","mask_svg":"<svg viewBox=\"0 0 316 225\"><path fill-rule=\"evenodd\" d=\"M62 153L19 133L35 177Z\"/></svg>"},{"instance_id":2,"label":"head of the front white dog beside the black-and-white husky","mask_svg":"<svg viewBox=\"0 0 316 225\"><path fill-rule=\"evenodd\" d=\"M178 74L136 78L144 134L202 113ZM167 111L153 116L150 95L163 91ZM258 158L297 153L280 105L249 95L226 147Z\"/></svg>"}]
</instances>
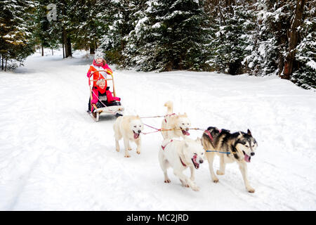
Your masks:
<instances>
[{"instance_id":1,"label":"head of the front white dog beside the black-and-white husky","mask_svg":"<svg viewBox=\"0 0 316 225\"><path fill-rule=\"evenodd\" d=\"M199 164L203 163L204 148L201 144L201 139L197 140L185 139L185 146L183 149L183 159L185 162L192 162L195 169L199 169Z\"/></svg>"}]
</instances>

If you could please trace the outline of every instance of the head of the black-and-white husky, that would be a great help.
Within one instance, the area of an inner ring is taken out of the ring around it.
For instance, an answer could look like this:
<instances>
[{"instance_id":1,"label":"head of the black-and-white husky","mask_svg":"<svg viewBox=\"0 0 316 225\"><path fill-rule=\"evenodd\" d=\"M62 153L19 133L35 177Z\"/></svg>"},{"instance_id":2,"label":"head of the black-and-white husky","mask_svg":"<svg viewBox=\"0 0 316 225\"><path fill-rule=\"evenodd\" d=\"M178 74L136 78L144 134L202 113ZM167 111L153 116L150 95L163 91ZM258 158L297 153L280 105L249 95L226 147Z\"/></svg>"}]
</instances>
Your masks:
<instances>
[{"instance_id":1,"label":"head of the black-and-white husky","mask_svg":"<svg viewBox=\"0 0 316 225\"><path fill-rule=\"evenodd\" d=\"M251 135L251 131L247 130L247 133L239 131L239 136L235 148L244 154L244 160L250 162L251 156L255 155L255 150L258 147L256 139Z\"/></svg>"}]
</instances>

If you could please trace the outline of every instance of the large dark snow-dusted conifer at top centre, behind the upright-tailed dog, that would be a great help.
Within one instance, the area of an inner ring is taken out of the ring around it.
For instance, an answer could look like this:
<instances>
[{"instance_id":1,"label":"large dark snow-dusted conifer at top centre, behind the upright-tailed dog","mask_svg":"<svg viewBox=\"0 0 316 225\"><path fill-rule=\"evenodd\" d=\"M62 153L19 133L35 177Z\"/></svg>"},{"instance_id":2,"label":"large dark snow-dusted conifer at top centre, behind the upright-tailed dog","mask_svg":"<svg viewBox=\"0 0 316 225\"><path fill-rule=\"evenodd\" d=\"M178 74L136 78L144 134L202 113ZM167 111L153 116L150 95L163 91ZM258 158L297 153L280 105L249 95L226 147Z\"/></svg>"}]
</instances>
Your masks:
<instances>
[{"instance_id":1,"label":"large dark snow-dusted conifer at top centre, behind the upright-tailed dog","mask_svg":"<svg viewBox=\"0 0 316 225\"><path fill-rule=\"evenodd\" d=\"M139 70L195 70L204 62L203 1L147 1L129 37L128 65ZM131 54L132 53L132 54Z\"/></svg>"}]
</instances>

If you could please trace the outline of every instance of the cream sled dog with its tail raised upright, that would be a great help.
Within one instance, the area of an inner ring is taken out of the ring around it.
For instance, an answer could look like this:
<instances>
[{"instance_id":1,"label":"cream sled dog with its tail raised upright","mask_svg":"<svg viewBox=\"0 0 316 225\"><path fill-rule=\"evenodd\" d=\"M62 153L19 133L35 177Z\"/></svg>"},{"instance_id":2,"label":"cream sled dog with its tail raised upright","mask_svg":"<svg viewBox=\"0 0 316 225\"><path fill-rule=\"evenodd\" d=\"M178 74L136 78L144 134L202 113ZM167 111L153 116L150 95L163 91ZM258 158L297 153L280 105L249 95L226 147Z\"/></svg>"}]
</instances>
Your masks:
<instances>
[{"instance_id":1,"label":"cream sled dog with its tail raised upright","mask_svg":"<svg viewBox=\"0 0 316 225\"><path fill-rule=\"evenodd\" d=\"M187 114L176 115L173 113L173 102L167 101L164 106L167 107L167 115L162 120L162 129L173 129L171 131L162 131L162 136L164 139L172 139L174 137L183 137L189 136L189 128L191 122L187 117Z\"/></svg>"}]
</instances>

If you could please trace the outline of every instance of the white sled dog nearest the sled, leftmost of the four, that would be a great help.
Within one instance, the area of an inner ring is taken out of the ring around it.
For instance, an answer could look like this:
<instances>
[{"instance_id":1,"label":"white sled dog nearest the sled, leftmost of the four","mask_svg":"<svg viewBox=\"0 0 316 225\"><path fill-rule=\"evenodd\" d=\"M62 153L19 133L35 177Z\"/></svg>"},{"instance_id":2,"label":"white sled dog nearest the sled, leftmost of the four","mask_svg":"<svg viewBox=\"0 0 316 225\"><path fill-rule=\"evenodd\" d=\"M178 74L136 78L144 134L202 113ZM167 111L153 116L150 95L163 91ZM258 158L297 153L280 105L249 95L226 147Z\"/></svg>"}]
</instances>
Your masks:
<instances>
[{"instance_id":1,"label":"white sled dog nearest the sled, leftmost of the four","mask_svg":"<svg viewBox=\"0 0 316 225\"><path fill-rule=\"evenodd\" d=\"M123 138L126 158L131 157L129 155L129 150L131 150L129 141L136 143L136 153L140 154L140 133L143 131L143 128L143 122L139 116L124 115L117 117L117 120L113 124L116 150L119 152L119 140Z\"/></svg>"}]
</instances>

